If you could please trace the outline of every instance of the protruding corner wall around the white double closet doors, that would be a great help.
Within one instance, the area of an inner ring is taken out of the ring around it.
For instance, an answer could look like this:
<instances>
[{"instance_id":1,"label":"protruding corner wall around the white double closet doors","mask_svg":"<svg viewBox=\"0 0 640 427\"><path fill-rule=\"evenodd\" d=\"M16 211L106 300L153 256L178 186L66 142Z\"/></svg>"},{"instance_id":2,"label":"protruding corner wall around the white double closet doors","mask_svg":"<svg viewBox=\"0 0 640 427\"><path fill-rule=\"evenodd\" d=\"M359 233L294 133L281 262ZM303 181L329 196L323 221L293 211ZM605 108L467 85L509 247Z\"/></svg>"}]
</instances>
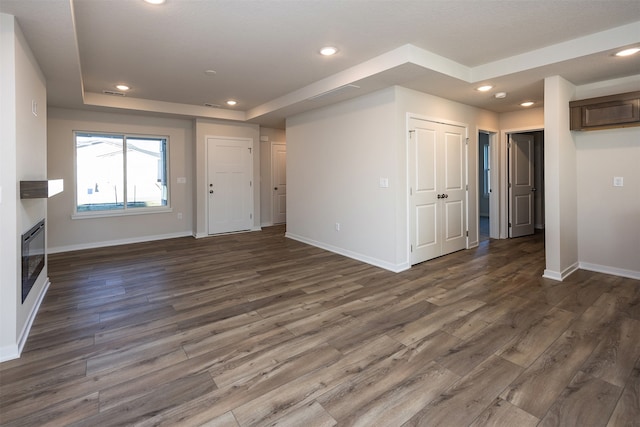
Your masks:
<instances>
[{"instance_id":1,"label":"protruding corner wall around the white double closet doors","mask_svg":"<svg viewBox=\"0 0 640 427\"><path fill-rule=\"evenodd\" d=\"M408 113L468 126L469 235L477 244L477 133L497 129L498 116L403 87L287 120L289 237L393 271L409 267Z\"/></svg>"}]
</instances>

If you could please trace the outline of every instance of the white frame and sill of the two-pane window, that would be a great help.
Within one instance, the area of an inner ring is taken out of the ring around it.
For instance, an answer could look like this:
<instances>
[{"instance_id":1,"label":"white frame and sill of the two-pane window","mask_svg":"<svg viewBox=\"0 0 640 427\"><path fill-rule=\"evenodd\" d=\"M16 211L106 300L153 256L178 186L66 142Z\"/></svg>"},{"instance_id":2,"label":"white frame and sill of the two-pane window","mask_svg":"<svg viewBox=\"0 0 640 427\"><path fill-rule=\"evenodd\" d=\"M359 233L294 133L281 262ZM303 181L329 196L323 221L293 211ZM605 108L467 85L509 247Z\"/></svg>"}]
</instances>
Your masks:
<instances>
[{"instance_id":1,"label":"white frame and sill of the two-pane window","mask_svg":"<svg viewBox=\"0 0 640 427\"><path fill-rule=\"evenodd\" d=\"M104 136L119 136L124 140L124 155L123 155L123 194L124 194L124 204L122 209L114 209L114 210L96 210L96 211L78 211L78 154L77 154L77 135L78 134L94 134L94 135L104 135ZM127 207L127 158L126 158L126 147L127 147L127 138L136 138L136 139L164 139L166 144L165 150L165 168L166 168L166 186L167 186L167 204L165 206L151 206L151 207ZM71 215L72 219L85 219L85 218L102 218L102 217L118 217L118 216L130 216L130 215L148 215L148 214L158 214L158 213L167 213L172 212L171 208L171 168L170 168L170 150L171 144L169 141L168 135L149 135L149 134L135 134L129 132L101 132L101 131L84 131L84 130L76 130L73 132L73 214Z\"/></svg>"}]
</instances>

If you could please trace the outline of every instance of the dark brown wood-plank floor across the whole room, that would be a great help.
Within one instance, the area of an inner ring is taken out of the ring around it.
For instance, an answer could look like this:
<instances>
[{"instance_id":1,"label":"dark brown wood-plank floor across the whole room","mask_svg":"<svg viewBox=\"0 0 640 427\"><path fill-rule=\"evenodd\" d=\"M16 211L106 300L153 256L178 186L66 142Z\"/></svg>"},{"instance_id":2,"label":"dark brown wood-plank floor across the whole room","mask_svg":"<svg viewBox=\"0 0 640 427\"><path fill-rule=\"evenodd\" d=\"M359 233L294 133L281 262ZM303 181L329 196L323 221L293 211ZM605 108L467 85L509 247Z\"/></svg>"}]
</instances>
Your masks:
<instances>
[{"instance_id":1,"label":"dark brown wood-plank floor across the whole room","mask_svg":"<svg viewBox=\"0 0 640 427\"><path fill-rule=\"evenodd\" d=\"M0 423L638 426L640 282L541 236L394 274L283 227L49 257Z\"/></svg>"}]
</instances>

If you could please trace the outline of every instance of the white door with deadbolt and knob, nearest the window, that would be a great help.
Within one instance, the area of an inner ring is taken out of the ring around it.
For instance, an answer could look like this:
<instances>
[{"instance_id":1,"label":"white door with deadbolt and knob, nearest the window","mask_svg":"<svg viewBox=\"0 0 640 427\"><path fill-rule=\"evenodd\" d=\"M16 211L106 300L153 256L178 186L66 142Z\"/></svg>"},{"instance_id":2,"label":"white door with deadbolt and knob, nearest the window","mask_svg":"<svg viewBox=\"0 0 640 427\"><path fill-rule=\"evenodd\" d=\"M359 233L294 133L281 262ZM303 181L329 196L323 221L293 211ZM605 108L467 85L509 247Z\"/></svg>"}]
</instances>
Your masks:
<instances>
[{"instance_id":1,"label":"white door with deadbolt and knob, nearest the window","mask_svg":"<svg viewBox=\"0 0 640 427\"><path fill-rule=\"evenodd\" d=\"M251 229L252 151L250 139L207 138L209 234Z\"/></svg>"}]
</instances>

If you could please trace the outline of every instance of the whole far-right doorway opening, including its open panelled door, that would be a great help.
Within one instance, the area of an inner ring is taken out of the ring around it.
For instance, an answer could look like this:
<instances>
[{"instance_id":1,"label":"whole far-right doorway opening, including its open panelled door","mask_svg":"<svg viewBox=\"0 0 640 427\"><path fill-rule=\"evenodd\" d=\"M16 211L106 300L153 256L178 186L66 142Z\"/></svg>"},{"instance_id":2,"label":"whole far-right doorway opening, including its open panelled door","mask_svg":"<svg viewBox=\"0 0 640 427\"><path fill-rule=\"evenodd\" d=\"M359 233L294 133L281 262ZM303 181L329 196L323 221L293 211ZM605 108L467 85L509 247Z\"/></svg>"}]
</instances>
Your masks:
<instances>
[{"instance_id":1,"label":"whole far-right doorway opening, including its open panelled door","mask_svg":"<svg viewBox=\"0 0 640 427\"><path fill-rule=\"evenodd\" d=\"M544 229L544 132L507 134L508 237Z\"/></svg>"}]
</instances>

